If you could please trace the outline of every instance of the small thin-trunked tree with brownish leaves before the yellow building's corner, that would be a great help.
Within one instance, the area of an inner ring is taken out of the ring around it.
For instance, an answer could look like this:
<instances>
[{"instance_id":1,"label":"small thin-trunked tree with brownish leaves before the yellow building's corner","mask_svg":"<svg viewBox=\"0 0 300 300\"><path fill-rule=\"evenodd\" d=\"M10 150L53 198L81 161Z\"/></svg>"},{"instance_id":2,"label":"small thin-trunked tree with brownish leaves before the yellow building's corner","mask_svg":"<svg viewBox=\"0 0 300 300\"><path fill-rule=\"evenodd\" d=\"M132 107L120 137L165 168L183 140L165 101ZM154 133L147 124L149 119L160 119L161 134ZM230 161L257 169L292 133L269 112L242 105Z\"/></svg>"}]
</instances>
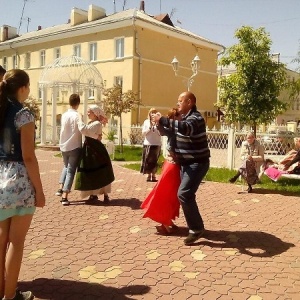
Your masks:
<instances>
[{"instance_id":1,"label":"small thin-trunked tree with brownish leaves before the yellow building's corner","mask_svg":"<svg viewBox=\"0 0 300 300\"><path fill-rule=\"evenodd\" d=\"M140 100L137 94L132 90L128 90L126 93L122 92L121 85L115 85L112 88L104 89L104 110L106 113L112 116L119 117L120 127L120 145L121 152L123 153L123 132L122 132L122 114L128 113L132 109L136 108L140 104Z\"/></svg>"}]
</instances>

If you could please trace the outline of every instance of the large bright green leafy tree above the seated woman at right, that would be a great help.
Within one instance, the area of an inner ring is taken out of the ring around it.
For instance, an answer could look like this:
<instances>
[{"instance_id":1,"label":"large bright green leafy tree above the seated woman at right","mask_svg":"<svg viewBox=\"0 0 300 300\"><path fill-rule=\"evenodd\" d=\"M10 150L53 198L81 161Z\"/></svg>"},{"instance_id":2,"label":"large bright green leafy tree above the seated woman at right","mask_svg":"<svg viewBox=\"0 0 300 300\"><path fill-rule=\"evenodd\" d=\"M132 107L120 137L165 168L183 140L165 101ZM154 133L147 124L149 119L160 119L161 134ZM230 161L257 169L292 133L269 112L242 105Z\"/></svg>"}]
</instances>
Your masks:
<instances>
[{"instance_id":1,"label":"large bright green leafy tree above the seated woman at right","mask_svg":"<svg viewBox=\"0 0 300 300\"><path fill-rule=\"evenodd\" d=\"M286 87L286 72L282 63L272 59L271 40L264 28L243 26L235 37L239 43L218 62L236 67L236 73L219 79L218 106L225 110L225 120L248 124L256 135L258 124L270 123L288 107L278 99Z\"/></svg>"}]
</instances>

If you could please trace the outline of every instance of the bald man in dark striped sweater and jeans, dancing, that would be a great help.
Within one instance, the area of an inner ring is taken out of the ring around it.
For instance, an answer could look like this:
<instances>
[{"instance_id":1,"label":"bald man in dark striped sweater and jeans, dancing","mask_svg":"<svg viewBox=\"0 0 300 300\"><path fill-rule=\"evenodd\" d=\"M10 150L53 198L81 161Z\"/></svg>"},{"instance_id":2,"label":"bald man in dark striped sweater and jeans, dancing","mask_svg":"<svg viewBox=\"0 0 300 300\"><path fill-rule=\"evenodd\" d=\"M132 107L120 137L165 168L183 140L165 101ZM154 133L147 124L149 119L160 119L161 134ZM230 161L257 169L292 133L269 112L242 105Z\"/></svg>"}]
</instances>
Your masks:
<instances>
[{"instance_id":1,"label":"bald man in dark striped sweater and jeans, dancing","mask_svg":"<svg viewBox=\"0 0 300 300\"><path fill-rule=\"evenodd\" d=\"M210 150L205 120L197 111L196 96L191 92L181 93L177 106L182 115L181 121L171 120L160 114L156 114L154 120L176 134L175 154L181 177L178 199L189 227L189 235L184 243L191 245L205 232L196 202L196 191L209 169Z\"/></svg>"}]
</instances>

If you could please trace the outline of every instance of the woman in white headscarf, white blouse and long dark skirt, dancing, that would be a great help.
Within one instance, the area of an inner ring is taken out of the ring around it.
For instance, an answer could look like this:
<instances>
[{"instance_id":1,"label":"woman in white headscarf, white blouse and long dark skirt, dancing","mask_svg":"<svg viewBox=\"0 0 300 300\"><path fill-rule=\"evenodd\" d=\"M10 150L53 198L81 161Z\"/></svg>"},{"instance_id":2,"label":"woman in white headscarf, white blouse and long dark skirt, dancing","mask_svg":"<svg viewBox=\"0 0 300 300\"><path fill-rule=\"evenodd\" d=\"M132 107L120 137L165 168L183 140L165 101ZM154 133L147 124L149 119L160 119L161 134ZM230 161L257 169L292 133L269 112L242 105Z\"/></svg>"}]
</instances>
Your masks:
<instances>
[{"instance_id":1,"label":"woman in white headscarf, white blouse and long dark skirt, dancing","mask_svg":"<svg viewBox=\"0 0 300 300\"><path fill-rule=\"evenodd\" d=\"M104 111L98 105L90 105L87 111L88 124L78 122L80 132L85 136L80 163L75 179L75 190L81 191L81 197L89 196L88 201L98 200L104 194L104 203L109 202L108 193L114 181L114 172L110 157L101 142L102 125L107 123Z\"/></svg>"}]
</instances>

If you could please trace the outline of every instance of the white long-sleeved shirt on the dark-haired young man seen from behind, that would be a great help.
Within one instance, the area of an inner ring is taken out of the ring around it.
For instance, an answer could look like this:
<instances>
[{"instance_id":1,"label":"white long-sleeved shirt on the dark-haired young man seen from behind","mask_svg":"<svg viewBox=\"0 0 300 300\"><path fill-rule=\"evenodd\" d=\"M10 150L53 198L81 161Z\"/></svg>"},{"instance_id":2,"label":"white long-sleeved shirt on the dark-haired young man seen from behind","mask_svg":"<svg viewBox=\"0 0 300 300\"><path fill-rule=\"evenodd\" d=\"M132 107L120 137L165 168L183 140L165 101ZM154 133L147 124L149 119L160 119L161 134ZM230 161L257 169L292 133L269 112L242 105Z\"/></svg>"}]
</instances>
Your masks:
<instances>
[{"instance_id":1,"label":"white long-sleeved shirt on the dark-haired young man seen from behind","mask_svg":"<svg viewBox=\"0 0 300 300\"><path fill-rule=\"evenodd\" d=\"M78 112L73 108L62 114L59 139L59 148L62 152L81 148L82 135L78 129L78 120Z\"/></svg>"}]
</instances>

